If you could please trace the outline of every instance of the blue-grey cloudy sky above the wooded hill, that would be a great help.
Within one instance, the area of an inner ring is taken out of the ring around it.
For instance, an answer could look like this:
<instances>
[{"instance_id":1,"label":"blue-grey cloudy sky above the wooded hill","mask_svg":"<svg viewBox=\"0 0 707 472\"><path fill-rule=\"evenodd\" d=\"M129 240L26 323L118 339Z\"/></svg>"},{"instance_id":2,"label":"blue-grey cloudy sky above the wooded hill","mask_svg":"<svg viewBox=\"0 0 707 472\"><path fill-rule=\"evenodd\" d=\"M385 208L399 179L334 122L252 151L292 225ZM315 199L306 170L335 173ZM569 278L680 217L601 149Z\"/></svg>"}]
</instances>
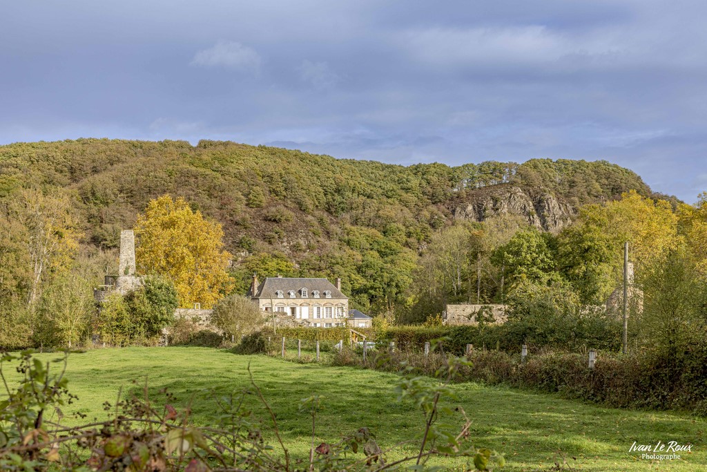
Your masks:
<instances>
[{"instance_id":1,"label":"blue-grey cloudy sky above the wooded hill","mask_svg":"<svg viewBox=\"0 0 707 472\"><path fill-rule=\"evenodd\" d=\"M0 144L607 160L707 190L703 1L66 0L0 14Z\"/></svg>"}]
</instances>

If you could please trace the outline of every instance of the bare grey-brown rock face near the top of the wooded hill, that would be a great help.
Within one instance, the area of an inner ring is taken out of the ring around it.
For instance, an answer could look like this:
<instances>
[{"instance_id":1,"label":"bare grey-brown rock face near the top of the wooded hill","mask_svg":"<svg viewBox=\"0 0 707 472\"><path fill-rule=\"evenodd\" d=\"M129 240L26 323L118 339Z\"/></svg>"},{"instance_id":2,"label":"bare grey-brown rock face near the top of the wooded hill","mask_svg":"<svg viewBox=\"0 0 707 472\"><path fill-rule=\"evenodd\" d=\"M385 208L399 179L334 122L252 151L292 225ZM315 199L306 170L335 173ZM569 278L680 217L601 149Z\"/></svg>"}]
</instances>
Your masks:
<instances>
[{"instance_id":1,"label":"bare grey-brown rock face near the top of the wooded hill","mask_svg":"<svg viewBox=\"0 0 707 472\"><path fill-rule=\"evenodd\" d=\"M489 191L490 190L490 191ZM452 208L457 219L484 221L499 214L519 214L537 229L559 231L571 223L575 214L570 205L559 202L549 193L531 197L518 187L480 189L471 192L467 201Z\"/></svg>"}]
</instances>

